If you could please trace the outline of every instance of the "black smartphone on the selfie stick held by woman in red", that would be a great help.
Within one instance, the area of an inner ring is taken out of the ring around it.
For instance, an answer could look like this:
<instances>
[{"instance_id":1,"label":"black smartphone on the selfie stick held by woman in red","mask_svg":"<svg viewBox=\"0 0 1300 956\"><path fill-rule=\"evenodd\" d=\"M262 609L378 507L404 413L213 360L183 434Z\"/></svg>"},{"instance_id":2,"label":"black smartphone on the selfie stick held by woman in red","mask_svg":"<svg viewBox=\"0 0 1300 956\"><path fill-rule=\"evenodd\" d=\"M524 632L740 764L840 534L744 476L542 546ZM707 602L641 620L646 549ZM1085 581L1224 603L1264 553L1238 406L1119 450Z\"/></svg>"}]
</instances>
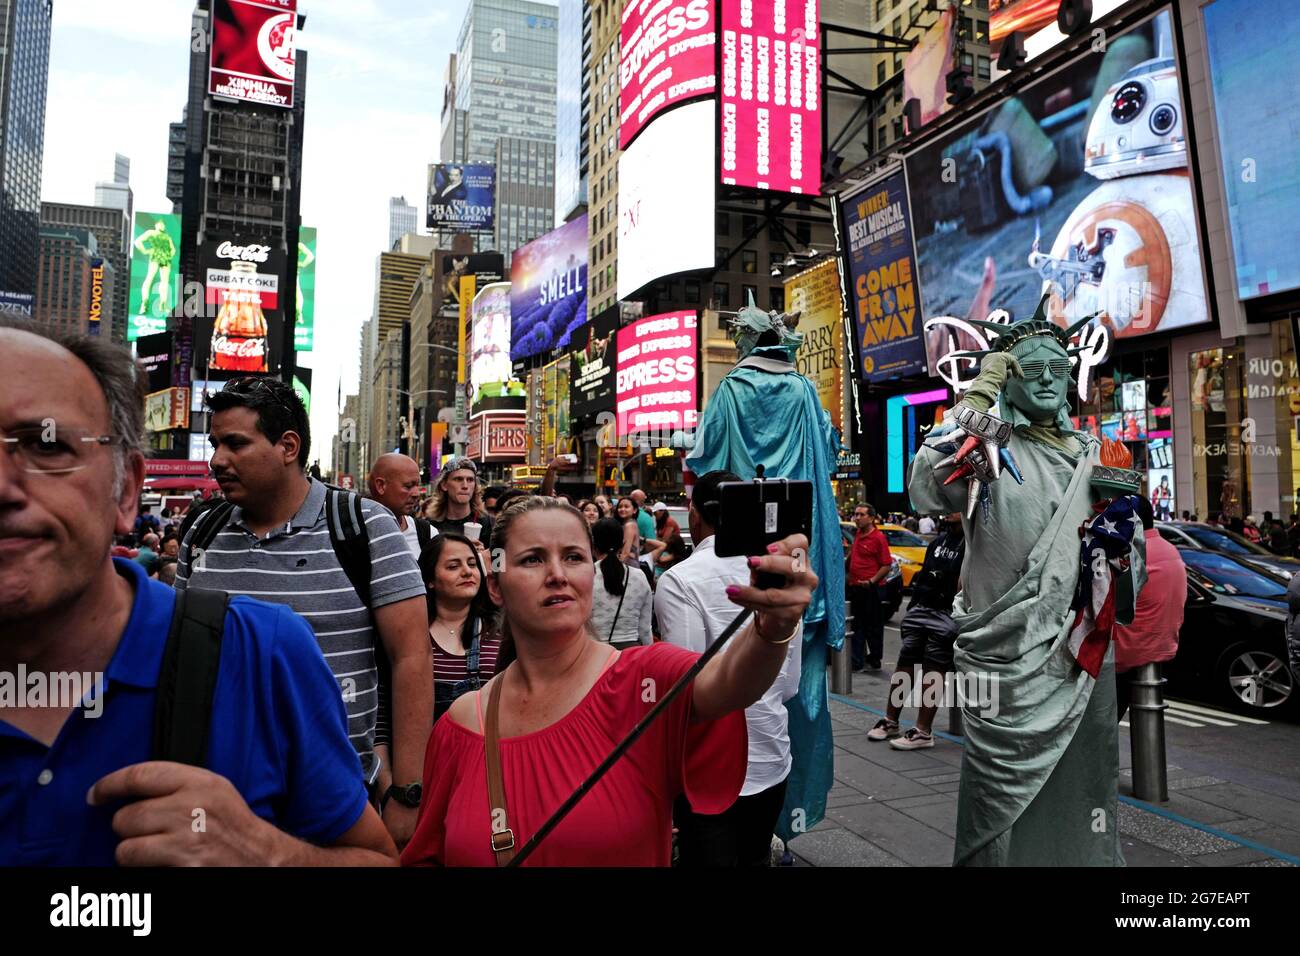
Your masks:
<instances>
[{"instance_id":1,"label":"black smartphone on the selfie stick held by woman in red","mask_svg":"<svg viewBox=\"0 0 1300 956\"><path fill-rule=\"evenodd\" d=\"M714 550L719 558L767 554L767 546L790 535L812 541L812 483L764 479L723 481L718 485L718 527ZM757 587L783 588L781 575L760 571Z\"/></svg>"}]
</instances>

